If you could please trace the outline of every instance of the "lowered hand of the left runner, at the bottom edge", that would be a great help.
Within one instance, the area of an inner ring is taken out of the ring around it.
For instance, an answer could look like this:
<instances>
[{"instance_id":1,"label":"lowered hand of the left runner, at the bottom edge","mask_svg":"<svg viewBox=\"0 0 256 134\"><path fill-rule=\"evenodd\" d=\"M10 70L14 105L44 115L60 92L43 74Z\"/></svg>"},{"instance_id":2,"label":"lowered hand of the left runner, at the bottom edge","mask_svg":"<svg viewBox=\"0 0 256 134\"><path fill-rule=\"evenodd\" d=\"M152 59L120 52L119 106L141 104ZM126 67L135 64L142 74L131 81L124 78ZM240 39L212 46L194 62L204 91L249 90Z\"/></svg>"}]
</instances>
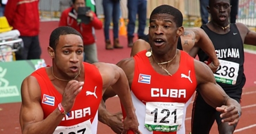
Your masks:
<instances>
[{"instance_id":1,"label":"lowered hand of the left runner, at the bottom edge","mask_svg":"<svg viewBox=\"0 0 256 134\"><path fill-rule=\"evenodd\" d=\"M134 116L127 117L123 120L123 131L122 134L126 134L127 131L133 131L134 133L139 133L139 122L137 119L137 116L134 114Z\"/></svg>"}]
</instances>

